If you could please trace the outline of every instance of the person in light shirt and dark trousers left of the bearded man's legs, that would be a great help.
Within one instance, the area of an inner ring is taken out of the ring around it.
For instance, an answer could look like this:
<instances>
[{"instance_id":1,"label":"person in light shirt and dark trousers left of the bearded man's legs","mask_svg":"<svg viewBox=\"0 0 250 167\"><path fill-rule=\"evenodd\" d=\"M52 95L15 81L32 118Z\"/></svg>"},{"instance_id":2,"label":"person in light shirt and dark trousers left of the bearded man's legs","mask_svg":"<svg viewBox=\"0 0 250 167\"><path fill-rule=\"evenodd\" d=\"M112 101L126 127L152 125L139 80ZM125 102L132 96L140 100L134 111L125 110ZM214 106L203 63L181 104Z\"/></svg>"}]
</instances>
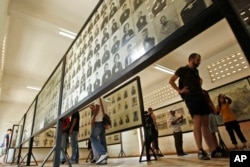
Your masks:
<instances>
[{"instance_id":1,"label":"person in light shirt and dark trousers left of the bearded man's legs","mask_svg":"<svg viewBox=\"0 0 250 167\"><path fill-rule=\"evenodd\" d=\"M184 153L183 151L183 135L182 135L182 130L181 130L181 125L183 123L183 115L181 115L180 117L177 117L175 115L175 111L171 110L169 115L169 119L168 122L172 128L173 131L173 136L174 136L174 144L175 144L175 149L176 149L176 153L178 156L184 156L187 155L186 153Z\"/></svg>"}]
</instances>

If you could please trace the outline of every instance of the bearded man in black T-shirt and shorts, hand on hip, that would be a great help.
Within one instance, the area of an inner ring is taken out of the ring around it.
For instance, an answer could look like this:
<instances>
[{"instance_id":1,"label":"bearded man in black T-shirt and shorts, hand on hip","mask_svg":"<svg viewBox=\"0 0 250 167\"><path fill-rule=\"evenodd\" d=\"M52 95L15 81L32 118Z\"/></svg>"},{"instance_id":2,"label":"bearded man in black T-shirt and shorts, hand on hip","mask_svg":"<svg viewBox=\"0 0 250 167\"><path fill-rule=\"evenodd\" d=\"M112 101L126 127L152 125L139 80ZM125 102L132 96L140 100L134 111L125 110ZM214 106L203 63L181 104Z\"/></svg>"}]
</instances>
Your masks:
<instances>
[{"instance_id":1,"label":"bearded man in black T-shirt and shorts, hand on hip","mask_svg":"<svg viewBox=\"0 0 250 167\"><path fill-rule=\"evenodd\" d=\"M212 136L208 126L210 111L202 94L200 76L197 69L201 62L201 56L198 53L192 53L188 61L188 65L177 69L175 74L170 78L169 83L182 96L193 119L193 133L198 148L198 158L201 160L210 159L208 154L203 150L202 136L209 150L214 150L211 155L216 156L212 157L219 158L222 156L222 153L216 150L216 145L211 140ZM179 87L175 83L178 78Z\"/></svg>"}]
</instances>

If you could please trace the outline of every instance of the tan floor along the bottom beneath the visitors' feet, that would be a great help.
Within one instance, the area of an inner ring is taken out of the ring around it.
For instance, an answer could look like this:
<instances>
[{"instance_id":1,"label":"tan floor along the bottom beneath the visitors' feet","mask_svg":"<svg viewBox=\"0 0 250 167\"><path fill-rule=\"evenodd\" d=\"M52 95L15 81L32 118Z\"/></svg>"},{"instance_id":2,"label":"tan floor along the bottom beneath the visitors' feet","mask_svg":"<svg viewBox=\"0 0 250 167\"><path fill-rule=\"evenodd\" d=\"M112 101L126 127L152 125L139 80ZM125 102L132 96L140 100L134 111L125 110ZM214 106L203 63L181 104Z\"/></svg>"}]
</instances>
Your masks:
<instances>
[{"instance_id":1,"label":"tan floor along the bottom beneath the visitors' feet","mask_svg":"<svg viewBox=\"0 0 250 167\"><path fill-rule=\"evenodd\" d=\"M125 158L110 158L108 159L107 165L96 165L86 163L85 160L81 160L79 164L73 164L73 167L96 167L96 166L119 166L119 167L229 167L228 158L218 158L212 160L199 160L197 154L189 154L183 157L176 155L165 155L164 157L158 158L157 160L144 161L145 157L142 158L143 162L139 162L139 157L125 157ZM6 165L5 165L6 166ZM7 165L11 166L11 165ZM6 167L7 167L6 166ZM12 165L17 166L17 165ZM38 165L41 166L41 163ZM61 165L67 167L69 165ZM44 167L53 167L52 162L47 162Z\"/></svg>"}]
</instances>

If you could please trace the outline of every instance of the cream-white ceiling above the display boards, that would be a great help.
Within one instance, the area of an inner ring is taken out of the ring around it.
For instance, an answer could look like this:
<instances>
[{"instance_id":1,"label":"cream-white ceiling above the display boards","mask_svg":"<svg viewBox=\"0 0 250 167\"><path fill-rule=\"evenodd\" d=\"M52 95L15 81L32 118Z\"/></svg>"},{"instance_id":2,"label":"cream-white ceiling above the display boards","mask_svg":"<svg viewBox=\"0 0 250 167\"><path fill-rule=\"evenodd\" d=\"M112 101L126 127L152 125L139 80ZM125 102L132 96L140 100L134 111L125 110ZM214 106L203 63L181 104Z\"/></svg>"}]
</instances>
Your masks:
<instances>
[{"instance_id":1,"label":"cream-white ceiling above the display boards","mask_svg":"<svg viewBox=\"0 0 250 167\"><path fill-rule=\"evenodd\" d=\"M9 0L5 13L7 22L4 22L8 28L0 84L1 102L25 104L27 107L32 103L38 92L26 86L43 86L72 42L60 36L58 31L66 29L77 33L97 3L98 0ZM4 31L1 30L0 34ZM187 56L192 52L207 59L235 44L237 42L224 20L174 50L158 64L175 70L187 63ZM169 77L152 67L142 71L140 76L143 88Z\"/></svg>"}]
</instances>

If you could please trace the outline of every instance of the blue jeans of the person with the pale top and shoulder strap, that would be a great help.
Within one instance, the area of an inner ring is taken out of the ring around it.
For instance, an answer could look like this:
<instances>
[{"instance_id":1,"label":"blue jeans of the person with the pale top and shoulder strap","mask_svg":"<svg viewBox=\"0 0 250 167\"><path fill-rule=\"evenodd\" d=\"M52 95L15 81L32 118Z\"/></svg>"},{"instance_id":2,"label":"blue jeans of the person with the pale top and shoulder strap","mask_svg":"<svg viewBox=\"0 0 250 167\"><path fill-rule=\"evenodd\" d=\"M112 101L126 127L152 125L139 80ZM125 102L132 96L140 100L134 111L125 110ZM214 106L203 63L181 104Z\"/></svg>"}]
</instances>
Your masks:
<instances>
[{"instance_id":1,"label":"blue jeans of the person with the pale top and shoulder strap","mask_svg":"<svg viewBox=\"0 0 250 167\"><path fill-rule=\"evenodd\" d=\"M90 141L99 155L106 154L106 134L102 122L95 122L94 127L91 129Z\"/></svg>"}]
</instances>

